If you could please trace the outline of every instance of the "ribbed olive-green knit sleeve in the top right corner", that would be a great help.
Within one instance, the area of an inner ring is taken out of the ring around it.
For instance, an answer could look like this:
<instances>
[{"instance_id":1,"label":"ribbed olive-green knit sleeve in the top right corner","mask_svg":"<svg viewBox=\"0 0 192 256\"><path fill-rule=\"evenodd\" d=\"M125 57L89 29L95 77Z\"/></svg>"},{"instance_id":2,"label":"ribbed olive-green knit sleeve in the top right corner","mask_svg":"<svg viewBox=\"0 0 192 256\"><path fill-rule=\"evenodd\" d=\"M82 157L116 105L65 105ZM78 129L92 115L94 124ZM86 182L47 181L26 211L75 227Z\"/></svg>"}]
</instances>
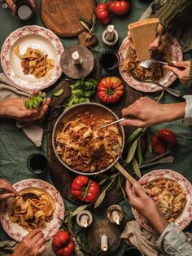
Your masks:
<instances>
[{"instance_id":1,"label":"ribbed olive-green knit sleeve in the top right corner","mask_svg":"<svg viewBox=\"0 0 192 256\"><path fill-rule=\"evenodd\" d=\"M191 10L191 0L167 0L167 2L160 7L155 14L151 15L151 17L159 18L160 23L164 26L164 29L168 29L178 20L181 20L181 22L188 20L189 15L190 19L192 19Z\"/></svg>"}]
</instances>

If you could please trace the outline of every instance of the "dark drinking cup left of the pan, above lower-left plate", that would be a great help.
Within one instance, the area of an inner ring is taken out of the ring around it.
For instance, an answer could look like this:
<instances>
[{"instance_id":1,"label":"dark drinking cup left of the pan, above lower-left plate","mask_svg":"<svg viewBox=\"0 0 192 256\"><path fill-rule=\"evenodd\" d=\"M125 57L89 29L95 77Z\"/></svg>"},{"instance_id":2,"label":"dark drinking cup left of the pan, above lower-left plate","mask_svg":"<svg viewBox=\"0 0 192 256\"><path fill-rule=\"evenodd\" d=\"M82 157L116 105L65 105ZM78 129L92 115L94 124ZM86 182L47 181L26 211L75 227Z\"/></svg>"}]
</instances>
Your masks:
<instances>
[{"instance_id":1,"label":"dark drinking cup left of the pan, above lower-left plate","mask_svg":"<svg viewBox=\"0 0 192 256\"><path fill-rule=\"evenodd\" d=\"M48 170L48 161L42 154L32 154L27 160L28 170L33 174L42 174Z\"/></svg>"}]
</instances>

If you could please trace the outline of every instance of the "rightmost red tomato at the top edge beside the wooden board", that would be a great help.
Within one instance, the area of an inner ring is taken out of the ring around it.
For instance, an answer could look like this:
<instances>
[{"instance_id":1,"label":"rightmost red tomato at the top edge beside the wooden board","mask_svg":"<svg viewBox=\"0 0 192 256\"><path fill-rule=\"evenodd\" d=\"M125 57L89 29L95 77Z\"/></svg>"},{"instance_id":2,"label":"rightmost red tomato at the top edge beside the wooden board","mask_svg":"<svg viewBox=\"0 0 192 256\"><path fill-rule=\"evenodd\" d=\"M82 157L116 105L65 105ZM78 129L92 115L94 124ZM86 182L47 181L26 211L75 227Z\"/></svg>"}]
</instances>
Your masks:
<instances>
[{"instance_id":1,"label":"rightmost red tomato at the top edge beside the wooden board","mask_svg":"<svg viewBox=\"0 0 192 256\"><path fill-rule=\"evenodd\" d=\"M128 1L109 1L110 10L116 15L124 15L129 11L130 2Z\"/></svg>"}]
</instances>

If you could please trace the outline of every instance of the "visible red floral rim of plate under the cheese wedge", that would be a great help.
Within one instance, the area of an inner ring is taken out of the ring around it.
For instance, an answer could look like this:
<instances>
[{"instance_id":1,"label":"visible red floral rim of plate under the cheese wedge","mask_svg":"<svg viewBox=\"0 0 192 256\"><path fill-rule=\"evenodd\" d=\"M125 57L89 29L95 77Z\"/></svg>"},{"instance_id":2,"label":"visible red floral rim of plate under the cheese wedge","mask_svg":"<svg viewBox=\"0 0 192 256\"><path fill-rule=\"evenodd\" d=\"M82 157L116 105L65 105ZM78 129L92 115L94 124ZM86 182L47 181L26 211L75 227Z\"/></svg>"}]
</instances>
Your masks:
<instances>
[{"instance_id":1,"label":"visible red floral rim of plate under the cheese wedge","mask_svg":"<svg viewBox=\"0 0 192 256\"><path fill-rule=\"evenodd\" d=\"M171 48L171 62L173 61L181 61L182 60L182 51L181 51L181 46L178 43L177 39L172 37L170 34L165 34L164 35L164 40L167 42L168 46ZM137 82L129 73L124 72L122 70L124 60L126 60L127 52L130 47L130 42L128 38L124 38L124 41L122 42L120 49L119 49L119 55L120 55L120 64L119 64L119 71L121 77L124 79L124 82L127 82L129 86L133 87L136 90L140 90L143 92L155 92L158 90L163 90L159 86L156 86L155 84L152 83L147 83L147 82ZM166 73L166 75L159 80L159 83L161 83L163 86L170 86L172 82L176 80L176 76L174 73L169 71Z\"/></svg>"}]
</instances>

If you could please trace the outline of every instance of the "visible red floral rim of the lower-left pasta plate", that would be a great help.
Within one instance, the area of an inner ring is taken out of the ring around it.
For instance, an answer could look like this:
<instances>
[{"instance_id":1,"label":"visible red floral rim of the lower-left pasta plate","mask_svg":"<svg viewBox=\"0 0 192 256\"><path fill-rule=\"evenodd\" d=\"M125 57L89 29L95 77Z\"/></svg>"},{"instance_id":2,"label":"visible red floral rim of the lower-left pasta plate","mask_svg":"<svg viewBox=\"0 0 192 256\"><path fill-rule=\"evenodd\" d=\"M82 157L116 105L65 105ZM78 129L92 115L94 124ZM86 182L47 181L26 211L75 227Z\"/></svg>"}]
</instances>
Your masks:
<instances>
[{"instance_id":1,"label":"visible red floral rim of the lower-left pasta plate","mask_svg":"<svg viewBox=\"0 0 192 256\"><path fill-rule=\"evenodd\" d=\"M54 236L56 232L58 232L59 227L61 226L61 220L59 219L64 218L65 208L63 205L63 199L56 188L54 188L50 183L47 183L41 179L24 179L13 185L13 188L15 188L15 190L18 192L21 189L31 187L45 189L55 201L54 218L50 221L50 223L48 223L47 227L42 230L44 233L44 238L46 240L50 240L50 238ZM11 238L15 239L15 241L21 241L24 236L28 234L28 231L24 229L24 227L21 227L17 223L11 223L8 216L6 203L1 205L1 223L5 232L7 232Z\"/></svg>"}]
</instances>

